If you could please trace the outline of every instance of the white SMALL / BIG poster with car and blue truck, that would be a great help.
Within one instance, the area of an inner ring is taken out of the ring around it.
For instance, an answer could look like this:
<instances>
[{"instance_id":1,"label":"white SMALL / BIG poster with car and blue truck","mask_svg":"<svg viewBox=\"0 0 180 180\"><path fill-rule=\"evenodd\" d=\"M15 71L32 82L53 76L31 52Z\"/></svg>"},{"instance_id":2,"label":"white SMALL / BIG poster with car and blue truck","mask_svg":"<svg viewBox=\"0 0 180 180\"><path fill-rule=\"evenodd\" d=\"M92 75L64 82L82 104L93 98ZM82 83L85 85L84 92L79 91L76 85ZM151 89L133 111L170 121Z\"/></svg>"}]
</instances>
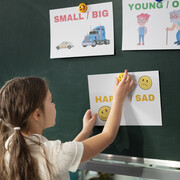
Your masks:
<instances>
[{"instance_id":1,"label":"white SMALL / BIG poster with car and blue truck","mask_svg":"<svg viewBox=\"0 0 180 180\"><path fill-rule=\"evenodd\" d=\"M114 54L112 2L50 10L50 58Z\"/></svg>"}]
</instances>

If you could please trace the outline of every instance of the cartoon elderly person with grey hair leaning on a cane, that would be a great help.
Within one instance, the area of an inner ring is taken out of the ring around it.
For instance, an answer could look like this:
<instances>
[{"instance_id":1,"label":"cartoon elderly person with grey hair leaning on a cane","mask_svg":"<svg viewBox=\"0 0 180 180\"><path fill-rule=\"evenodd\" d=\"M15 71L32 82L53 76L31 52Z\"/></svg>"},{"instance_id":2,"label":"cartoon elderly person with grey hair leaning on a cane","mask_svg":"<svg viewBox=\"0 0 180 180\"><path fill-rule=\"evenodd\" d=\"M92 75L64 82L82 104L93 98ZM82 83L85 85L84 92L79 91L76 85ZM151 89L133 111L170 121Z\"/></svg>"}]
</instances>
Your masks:
<instances>
[{"instance_id":1,"label":"cartoon elderly person with grey hair leaning on a cane","mask_svg":"<svg viewBox=\"0 0 180 180\"><path fill-rule=\"evenodd\" d=\"M170 14L170 21L173 24L172 24L172 27L166 28L166 31L167 31L167 33L166 33L166 44L167 44L168 31L173 31L176 28L178 30L176 33L177 41L175 41L174 44L180 45L180 10L171 11L169 14Z\"/></svg>"}]
</instances>

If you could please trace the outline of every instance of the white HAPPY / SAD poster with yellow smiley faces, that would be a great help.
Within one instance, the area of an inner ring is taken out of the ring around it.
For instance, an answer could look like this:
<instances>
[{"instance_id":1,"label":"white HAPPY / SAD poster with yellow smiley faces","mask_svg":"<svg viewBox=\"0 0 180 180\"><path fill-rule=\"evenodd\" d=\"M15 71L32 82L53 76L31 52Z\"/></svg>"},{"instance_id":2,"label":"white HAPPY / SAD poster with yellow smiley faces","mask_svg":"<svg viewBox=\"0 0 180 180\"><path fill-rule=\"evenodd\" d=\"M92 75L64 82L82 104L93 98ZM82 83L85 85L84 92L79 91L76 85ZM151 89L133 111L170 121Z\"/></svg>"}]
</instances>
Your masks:
<instances>
[{"instance_id":1,"label":"white HAPPY / SAD poster with yellow smiley faces","mask_svg":"<svg viewBox=\"0 0 180 180\"><path fill-rule=\"evenodd\" d=\"M124 102L122 126L162 126L159 72L131 72L136 86ZM113 102L119 73L88 75L90 108L97 113L96 126L103 126Z\"/></svg>"}]
</instances>

